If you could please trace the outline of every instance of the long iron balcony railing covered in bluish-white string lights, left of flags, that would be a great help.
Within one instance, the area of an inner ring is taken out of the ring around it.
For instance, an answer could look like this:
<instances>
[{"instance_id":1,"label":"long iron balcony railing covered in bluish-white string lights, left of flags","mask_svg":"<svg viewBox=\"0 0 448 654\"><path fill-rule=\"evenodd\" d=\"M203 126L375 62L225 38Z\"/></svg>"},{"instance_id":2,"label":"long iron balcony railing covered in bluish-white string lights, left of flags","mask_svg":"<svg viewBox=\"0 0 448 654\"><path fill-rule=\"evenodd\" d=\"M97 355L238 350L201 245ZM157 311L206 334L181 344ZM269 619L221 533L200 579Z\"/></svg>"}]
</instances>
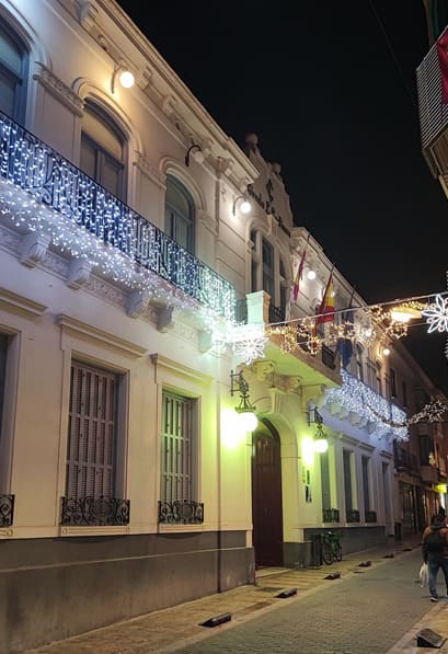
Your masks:
<instances>
[{"instance_id":1,"label":"long iron balcony railing covered in bluish-white string lights, left of flags","mask_svg":"<svg viewBox=\"0 0 448 654\"><path fill-rule=\"evenodd\" d=\"M53 238L59 231L56 238L66 246L60 232L67 237L69 227L81 229L127 257L129 268L138 264L233 320L234 288L227 279L2 113L0 177L66 218L64 226L49 230ZM33 211L23 209L19 220L38 229L39 218ZM89 255L85 251L84 246Z\"/></svg>"}]
</instances>

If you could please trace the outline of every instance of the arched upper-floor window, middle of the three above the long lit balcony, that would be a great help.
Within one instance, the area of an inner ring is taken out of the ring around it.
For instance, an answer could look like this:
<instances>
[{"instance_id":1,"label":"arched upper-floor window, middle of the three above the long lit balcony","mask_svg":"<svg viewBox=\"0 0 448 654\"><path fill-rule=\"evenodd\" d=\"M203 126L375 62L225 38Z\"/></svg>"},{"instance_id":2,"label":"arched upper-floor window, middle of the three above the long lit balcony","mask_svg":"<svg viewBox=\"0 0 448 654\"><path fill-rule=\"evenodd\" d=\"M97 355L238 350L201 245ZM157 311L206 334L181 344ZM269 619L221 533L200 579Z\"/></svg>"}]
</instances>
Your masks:
<instances>
[{"instance_id":1,"label":"arched upper-floor window, middle of the three above the long lit balcony","mask_svg":"<svg viewBox=\"0 0 448 654\"><path fill-rule=\"evenodd\" d=\"M85 103L80 169L106 191L125 200L125 137L96 105Z\"/></svg>"}]
</instances>

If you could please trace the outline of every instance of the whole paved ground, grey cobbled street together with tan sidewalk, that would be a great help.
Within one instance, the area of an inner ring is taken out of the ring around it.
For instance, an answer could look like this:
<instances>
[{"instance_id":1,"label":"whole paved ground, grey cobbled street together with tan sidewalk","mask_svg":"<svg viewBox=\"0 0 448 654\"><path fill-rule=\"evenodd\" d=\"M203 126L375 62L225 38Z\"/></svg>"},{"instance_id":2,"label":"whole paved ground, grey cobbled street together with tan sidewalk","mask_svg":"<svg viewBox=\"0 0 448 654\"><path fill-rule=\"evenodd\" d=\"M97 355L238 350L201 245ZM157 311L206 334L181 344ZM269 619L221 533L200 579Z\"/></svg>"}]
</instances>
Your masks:
<instances>
[{"instance_id":1,"label":"whole paved ground, grey cobbled street together with tan sidewalk","mask_svg":"<svg viewBox=\"0 0 448 654\"><path fill-rule=\"evenodd\" d=\"M437 627L444 626L448 609L448 600L434 607L427 588L420 587L420 562L414 543L349 554L320 569L267 570L259 574L255 586L156 611L30 654L411 654L412 629L430 624L432 616L438 617ZM341 576L325 580L332 573ZM277 597L291 588L297 588L296 595ZM439 590L443 595L441 582ZM200 626L227 612L230 621L211 629ZM418 649L420 654L425 651Z\"/></svg>"}]
</instances>

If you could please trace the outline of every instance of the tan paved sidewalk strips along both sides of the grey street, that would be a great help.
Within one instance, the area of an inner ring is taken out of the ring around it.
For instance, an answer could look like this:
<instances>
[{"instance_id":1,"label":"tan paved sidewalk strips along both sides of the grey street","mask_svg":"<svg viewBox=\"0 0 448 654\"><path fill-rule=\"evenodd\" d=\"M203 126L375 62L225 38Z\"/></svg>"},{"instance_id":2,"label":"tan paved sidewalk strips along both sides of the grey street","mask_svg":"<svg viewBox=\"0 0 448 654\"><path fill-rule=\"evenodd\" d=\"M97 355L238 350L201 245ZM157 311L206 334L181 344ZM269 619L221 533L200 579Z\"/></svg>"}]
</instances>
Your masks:
<instances>
[{"instance_id":1,"label":"tan paved sidewalk strips along both sides of the grey street","mask_svg":"<svg viewBox=\"0 0 448 654\"><path fill-rule=\"evenodd\" d=\"M386 565L392 558L420 548L420 538L413 541L392 542L361 552L347 554L333 565L315 569L265 569L256 574L255 585L240 586L226 593L211 595L175 607L117 622L113 626L90 631L36 650L27 654L166 654L202 641L217 630L231 629L238 623L284 606L288 596L279 598L282 592L290 597L305 597L319 593L330 574L347 577L368 573L369 567ZM222 623L207 628L203 622L223 617ZM448 601L436 605L411 632L388 654L424 653L416 649L415 634L420 629L430 628L441 635L448 635ZM446 649L439 650L448 653Z\"/></svg>"}]
</instances>

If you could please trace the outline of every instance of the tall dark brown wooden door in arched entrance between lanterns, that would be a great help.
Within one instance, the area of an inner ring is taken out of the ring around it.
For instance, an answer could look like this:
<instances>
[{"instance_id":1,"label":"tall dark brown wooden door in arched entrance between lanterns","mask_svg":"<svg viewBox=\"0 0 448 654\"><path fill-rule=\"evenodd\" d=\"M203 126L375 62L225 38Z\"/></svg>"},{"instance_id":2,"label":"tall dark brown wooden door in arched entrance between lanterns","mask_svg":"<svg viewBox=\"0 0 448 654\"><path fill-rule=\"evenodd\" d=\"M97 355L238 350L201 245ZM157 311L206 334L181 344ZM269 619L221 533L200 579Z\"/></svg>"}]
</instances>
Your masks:
<instances>
[{"instance_id":1,"label":"tall dark brown wooden door in arched entrance between lanterns","mask_svg":"<svg viewBox=\"0 0 448 654\"><path fill-rule=\"evenodd\" d=\"M280 439L267 421L253 433L252 519L256 567L283 565Z\"/></svg>"}]
</instances>

